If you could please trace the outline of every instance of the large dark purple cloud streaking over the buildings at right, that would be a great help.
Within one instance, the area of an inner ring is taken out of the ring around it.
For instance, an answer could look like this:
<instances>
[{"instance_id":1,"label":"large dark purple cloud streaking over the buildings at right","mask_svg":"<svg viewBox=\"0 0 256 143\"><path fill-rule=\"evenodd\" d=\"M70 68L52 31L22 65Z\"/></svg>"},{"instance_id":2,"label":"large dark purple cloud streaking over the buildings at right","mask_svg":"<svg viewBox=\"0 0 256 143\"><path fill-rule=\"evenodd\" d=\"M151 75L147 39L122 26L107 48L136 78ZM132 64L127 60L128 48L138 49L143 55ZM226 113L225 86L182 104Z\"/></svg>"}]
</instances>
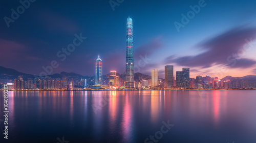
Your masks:
<instances>
[{"instance_id":1,"label":"large dark purple cloud streaking over the buildings at right","mask_svg":"<svg viewBox=\"0 0 256 143\"><path fill-rule=\"evenodd\" d=\"M206 51L196 56L183 56L175 57L169 56L165 59L166 63L177 63L181 66L196 67L201 66L203 68L210 67L212 65L225 65L231 68L245 68L250 67L256 63L253 59L238 58L236 55L240 52L247 52L243 50L245 44L248 44L245 39L256 39L256 28L243 28L238 27L231 29L215 38L203 41L197 44L195 47ZM248 45L249 46L249 45Z\"/></svg>"}]
</instances>

